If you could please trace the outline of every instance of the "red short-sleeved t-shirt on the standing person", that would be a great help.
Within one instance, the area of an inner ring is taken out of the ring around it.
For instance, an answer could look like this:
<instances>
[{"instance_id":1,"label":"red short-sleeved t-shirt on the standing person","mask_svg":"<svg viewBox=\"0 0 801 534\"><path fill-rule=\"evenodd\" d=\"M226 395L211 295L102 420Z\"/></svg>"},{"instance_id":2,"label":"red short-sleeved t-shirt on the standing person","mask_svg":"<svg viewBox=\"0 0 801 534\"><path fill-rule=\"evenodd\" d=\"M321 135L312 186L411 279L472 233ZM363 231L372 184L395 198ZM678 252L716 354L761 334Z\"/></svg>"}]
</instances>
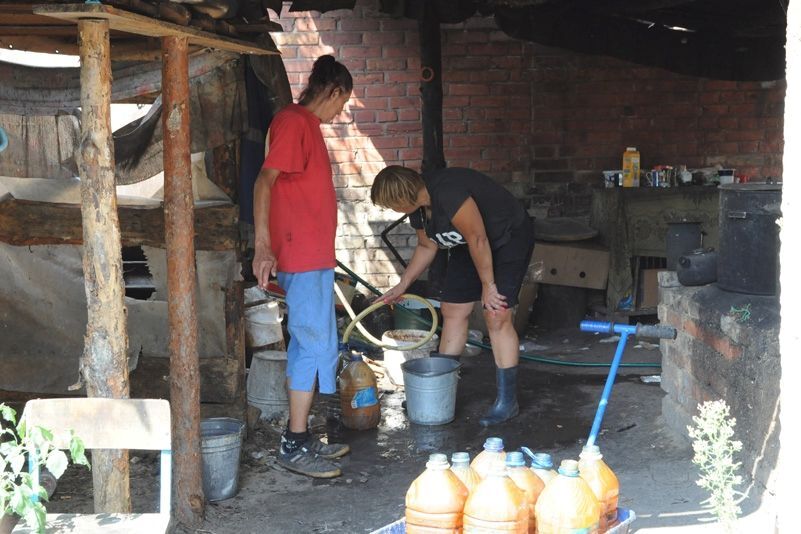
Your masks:
<instances>
[{"instance_id":1,"label":"red short-sleeved t-shirt on the standing person","mask_svg":"<svg viewBox=\"0 0 801 534\"><path fill-rule=\"evenodd\" d=\"M262 168L281 171L270 191L270 240L278 270L334 268L337 200L320 119L290 104L270 124L269 142Z\"/></svg>"}]
</instances>

